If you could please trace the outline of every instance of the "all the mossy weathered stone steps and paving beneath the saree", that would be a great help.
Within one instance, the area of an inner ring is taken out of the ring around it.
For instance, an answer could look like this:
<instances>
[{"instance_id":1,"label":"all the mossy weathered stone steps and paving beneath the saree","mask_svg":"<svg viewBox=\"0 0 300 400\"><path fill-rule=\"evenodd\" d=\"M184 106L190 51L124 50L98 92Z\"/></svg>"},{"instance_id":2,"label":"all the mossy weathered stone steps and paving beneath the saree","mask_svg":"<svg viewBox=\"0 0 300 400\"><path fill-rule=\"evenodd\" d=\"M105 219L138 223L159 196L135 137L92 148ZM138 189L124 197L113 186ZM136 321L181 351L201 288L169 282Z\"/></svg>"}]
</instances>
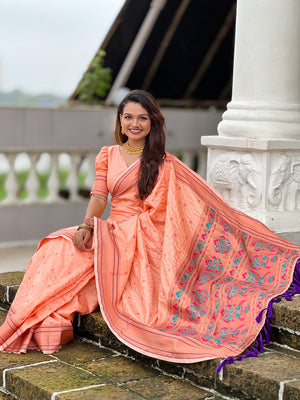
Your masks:
<instances>
[{"instance_id":1,"label":"all the mossy weathered stone steps and paving beneath the saree","mask_svg":"<svg viewBox=\"0 0 300 400\"><path fill-rule=\"evenodd\" d=\"M22 276L0 274L0 324ZM77 336L54 355L0 354L0 400L300 400L299 314L300 296L275 304L279 344L216 373L220 360L175 364L136 353L96 311L75 321Z\"/></svg>"}]
</instances>

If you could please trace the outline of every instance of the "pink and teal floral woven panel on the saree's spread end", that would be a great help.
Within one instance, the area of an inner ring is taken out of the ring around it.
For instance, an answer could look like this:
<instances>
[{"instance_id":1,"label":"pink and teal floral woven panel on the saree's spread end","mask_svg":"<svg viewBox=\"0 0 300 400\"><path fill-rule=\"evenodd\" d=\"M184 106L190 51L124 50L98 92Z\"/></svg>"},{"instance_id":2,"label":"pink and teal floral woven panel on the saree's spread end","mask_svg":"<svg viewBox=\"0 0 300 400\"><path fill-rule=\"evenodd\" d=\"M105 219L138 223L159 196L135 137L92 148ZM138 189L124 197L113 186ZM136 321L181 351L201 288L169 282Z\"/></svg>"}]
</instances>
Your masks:
<instances>
[{"instance_id":1,"label":"pink and teal floral woven panel on the saree's spread end","mask_svg":"<svg viewBox=\"0 0 300 400\"><path fill-rule=\"evenodd\" d=\"M196 336L217 348L251 342L251 327L273 289L271 271L279 259L285 279L288 260L282 253L280 247L237 232L208 208L177 276L169 323L161 331Z\"/></svg>"}]
</instances>

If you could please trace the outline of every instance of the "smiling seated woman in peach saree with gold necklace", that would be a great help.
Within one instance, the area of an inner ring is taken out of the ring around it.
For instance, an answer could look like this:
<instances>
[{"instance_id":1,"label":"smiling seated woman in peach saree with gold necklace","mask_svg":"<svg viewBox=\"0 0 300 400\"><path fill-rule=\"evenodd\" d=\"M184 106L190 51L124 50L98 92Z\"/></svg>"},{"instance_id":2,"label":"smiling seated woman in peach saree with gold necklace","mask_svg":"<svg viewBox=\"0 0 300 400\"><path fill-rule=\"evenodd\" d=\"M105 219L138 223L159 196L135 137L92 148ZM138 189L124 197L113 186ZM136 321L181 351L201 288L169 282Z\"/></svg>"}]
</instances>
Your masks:
<instances>
[{"instance_id":1,"label":"smiling seated woman in peach saree with gold necklace","mask_svg":"<svg viewBox=\"0 0 300 400\"><path fill-rule=\"evenodd\" d=\"M112 332L143 354L176 362L240 354L268 303L289 288L299 247L165 152L164 118L148 93L121 102L115 139L96 158L84 223L48 236L30 261L0 350L53 353L72 339L74 313L99 303Z\"/></svg>"}]
</instances>

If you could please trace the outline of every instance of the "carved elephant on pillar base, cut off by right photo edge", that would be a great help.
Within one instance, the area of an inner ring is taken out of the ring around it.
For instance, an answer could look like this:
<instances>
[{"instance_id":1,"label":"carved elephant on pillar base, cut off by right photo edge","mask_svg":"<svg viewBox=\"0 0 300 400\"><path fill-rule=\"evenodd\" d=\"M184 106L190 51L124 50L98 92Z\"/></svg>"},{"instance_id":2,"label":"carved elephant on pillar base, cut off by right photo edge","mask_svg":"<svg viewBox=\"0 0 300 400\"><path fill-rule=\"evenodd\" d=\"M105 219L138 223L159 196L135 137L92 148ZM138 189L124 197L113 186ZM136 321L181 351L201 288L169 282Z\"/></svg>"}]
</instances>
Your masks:
<instances>
[{"instance_id":1,"label":"carved elephant on pillar base, cut off by right photo edge","mask_svg":"<svg viewBox=\"0 0 300 400\"><path fill-rule=\"evenodd\" d=\"M300 159L292 162L283 154L274 165L270 176L268 198L279 210L294 211L300 191Z\"/></svg>"}]
</instances>

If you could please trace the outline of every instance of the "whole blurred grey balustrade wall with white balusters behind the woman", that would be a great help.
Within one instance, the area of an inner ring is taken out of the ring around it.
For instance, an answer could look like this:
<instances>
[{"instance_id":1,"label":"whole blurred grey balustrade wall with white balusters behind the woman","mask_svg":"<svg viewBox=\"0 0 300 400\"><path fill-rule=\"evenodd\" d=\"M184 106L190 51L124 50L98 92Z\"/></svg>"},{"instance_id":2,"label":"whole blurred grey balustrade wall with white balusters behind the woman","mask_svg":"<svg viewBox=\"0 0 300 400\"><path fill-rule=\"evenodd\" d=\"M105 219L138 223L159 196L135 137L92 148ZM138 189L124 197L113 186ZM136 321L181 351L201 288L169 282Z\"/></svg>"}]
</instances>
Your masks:
<instances>
[{"instance_id":1,"label":"whole blurred grey balustrade wall with white balusters behind the woman","mask_svg":"<svg viewBox=\"0 0 300 400\"><path fill-rule=\"evenodd\" d=\"M216 133L222 112L168 108L163 114L167 150L206 177L200 137ZM82 222L94 159L112 144L115 117L114 107L0 107L0 245ZM103 218L108 213L109 207Z\"/></svg>"}]
</instances>

